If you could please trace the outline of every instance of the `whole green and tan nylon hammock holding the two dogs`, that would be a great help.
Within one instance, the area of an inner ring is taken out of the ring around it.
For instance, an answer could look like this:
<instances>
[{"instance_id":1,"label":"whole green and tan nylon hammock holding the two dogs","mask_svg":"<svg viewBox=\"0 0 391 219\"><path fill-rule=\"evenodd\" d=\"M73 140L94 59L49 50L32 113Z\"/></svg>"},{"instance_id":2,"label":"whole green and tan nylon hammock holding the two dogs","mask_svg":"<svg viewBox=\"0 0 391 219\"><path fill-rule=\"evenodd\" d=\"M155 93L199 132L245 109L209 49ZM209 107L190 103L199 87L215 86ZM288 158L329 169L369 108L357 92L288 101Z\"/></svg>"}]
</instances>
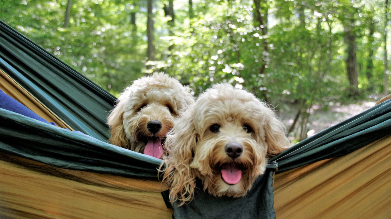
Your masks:
<instances>
[{"instance_id":1,"label":"whole green and tan nylon hammock holding the two dogs","mask_svg":"<svg viewBox=\"0 0 391 219\"><path fill-rule=\"evenodd\" d=\"M109 137L106 115L113 108L115 97L1 21L0 72L3 78L8 78L1 79L0 88L4 92L37 108L34 113L42 118L45 115L48 122L61 123L54 126L0 108L0 174L7 176L0 177L0 217L169 218L172 214L176 219L238 219L276 218L276 215L330 218L343 214L344 218L357 218L368 214L388 218L391 214L387 183L391 166L391 100L271 158L265 174L245 197L216 198L200 189L187 205L176 207L174 203L172 213L165 207L167 191L162 193L163 197L160 194L167 189L158 182L161 160L106 142ZM21 94L25 96L20 97ZM29 104L31 99L34 103ZM360 156L361 160L355 160ZM371 167L373 174L365 168L357 170L359 166ZM344 175L352 170L355 171L352 177L345 179ZM12 175L14 172L19 175ZM23 174L29 180L21 178ZM341 188L334 183L344 179L339 185L352 187L349 180L354 176L367 176L368 180L354 181L358 189L353 192L337 193L335 189ZM325 177L323 181L321 177ZM43 189L40 184L57 193L61 187L53 187L56 182L71 188L65 196L80 191L79 196L65 203L57 200L61 198L34 193ZM27 185L29 189L25 188ZM371 186L385 192L369 194L366 188ZM100 200L101 194L113 195ZM78 199L91 205L81 204ZM124 214L127 210L132 215Z\"/></svg>"}]
</instances>

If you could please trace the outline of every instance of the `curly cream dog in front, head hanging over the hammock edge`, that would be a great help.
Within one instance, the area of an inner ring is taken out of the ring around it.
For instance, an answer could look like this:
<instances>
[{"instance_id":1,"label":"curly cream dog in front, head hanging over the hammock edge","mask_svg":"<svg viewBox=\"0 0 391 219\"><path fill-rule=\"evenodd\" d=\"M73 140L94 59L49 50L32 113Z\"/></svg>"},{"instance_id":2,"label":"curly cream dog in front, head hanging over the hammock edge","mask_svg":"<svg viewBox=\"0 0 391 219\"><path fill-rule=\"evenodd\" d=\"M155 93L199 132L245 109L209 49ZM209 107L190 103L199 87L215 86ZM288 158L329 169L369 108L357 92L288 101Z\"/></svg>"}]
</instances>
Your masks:
<instances>
[{"instance_id":1,"label":"curly cream dog in front, head hanging over the hammock edge","mask_svg":"<svg viewBox=\"0 0 391 219\"><path fill-rule=\"evenodd\" d=\"M265 171L267 157L289 147L284 125L267 104L228 84L199 96L166 138L163 182L170 201L194 195L195 178L214 196L244 196ZM180 206L179 205L179 206Z\"/></svg>"}]
</instances>

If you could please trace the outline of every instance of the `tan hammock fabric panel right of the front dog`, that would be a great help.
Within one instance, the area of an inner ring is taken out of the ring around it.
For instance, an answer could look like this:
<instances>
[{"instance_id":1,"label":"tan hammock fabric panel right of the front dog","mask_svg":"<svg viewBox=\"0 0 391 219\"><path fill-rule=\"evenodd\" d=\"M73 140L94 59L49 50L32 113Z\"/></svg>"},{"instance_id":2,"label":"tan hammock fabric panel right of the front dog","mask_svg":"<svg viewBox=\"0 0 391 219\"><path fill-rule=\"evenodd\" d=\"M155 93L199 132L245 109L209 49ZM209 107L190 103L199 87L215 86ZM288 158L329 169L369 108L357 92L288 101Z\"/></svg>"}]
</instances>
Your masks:
<instances>
[{"instance_id":1,"label":"tan hammock fabric panel right of the front dog","mask_svg":"<svg viewBox=\"0 0 391 219\"><path fill-rule=\"evenodd\" d=\"M391 218L391 136L274 178L277 219Z\"/></svg>"}]
</instances>

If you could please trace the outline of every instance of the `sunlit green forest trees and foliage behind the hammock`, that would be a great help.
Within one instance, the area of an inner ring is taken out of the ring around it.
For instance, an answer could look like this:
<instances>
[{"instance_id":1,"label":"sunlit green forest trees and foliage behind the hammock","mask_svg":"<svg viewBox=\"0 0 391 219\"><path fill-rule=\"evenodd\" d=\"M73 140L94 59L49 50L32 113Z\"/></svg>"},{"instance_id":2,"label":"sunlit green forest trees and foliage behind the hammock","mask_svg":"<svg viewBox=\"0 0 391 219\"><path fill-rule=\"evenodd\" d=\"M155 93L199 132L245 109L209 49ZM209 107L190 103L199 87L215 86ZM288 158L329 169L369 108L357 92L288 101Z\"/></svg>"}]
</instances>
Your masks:
<instances>
[{"instance_id":1,"label":"sunlit green forest trees and foliage behind the hammock","mask_svg":"<svg viewBox=\"0 0 391 219\"><path fill-rule=\"evenodd\" d=\"M285 113L298 141L317 110L389 93L390 12L388 0L0 0L2 21L117 97L157 71L195 95L227 82Z\"/></svg>"}]
</instances>

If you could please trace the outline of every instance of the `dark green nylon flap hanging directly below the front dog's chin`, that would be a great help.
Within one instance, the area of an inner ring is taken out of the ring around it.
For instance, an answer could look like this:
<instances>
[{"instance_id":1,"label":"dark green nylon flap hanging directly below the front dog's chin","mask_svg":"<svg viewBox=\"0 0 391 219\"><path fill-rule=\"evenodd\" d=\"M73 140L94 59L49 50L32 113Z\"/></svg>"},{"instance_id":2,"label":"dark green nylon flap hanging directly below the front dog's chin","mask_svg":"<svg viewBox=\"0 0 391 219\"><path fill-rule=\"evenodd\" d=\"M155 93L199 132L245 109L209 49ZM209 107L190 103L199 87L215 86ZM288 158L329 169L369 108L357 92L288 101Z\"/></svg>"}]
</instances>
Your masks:
<instances>
[{"instance_id":1,"label":"dark green nylon flap hanging directly below the front dog's chin","mask_svg":"<svg viewBox=\"0 0 391 219\"><path fill-rule=\"evenodd\" d=\"M202 190L201 180L196 181L194 199L181 207L174 203L173 218L229 218L229 219L274 219L273 173L276 163L271 163L263 175L258 177L251 190L241 198L222 196L217 198Z\"/></svg>"}]
</instances>

